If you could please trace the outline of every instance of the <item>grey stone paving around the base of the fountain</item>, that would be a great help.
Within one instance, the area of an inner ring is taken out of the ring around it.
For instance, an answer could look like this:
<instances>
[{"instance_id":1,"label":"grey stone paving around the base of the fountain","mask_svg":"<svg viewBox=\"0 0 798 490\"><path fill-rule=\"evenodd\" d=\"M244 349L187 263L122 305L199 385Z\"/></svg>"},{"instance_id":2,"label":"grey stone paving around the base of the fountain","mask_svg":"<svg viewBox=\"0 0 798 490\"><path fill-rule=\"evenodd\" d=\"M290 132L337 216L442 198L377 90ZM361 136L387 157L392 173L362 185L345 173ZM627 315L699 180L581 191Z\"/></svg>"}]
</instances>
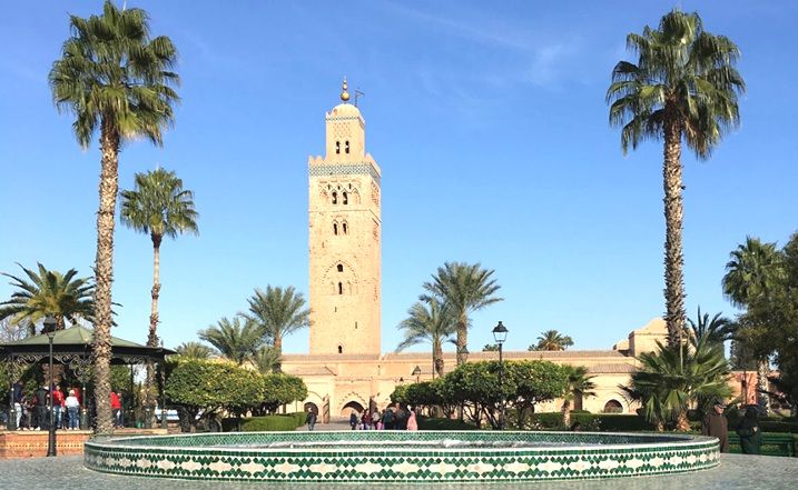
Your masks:
<instances>
[{"instance_id":1,"label":"grey stone paving around the base of the fountain","mask_svg":"<svg viewBox=\"0 0 798 490\"><path fill-rule=\"evenodd\" d=\"M541 482L541 483L368 483L368 484L317 484L267 483L269 490L406 490L408 487L434 490L795 490L798 488L798 458L767 456L722 454L717 469L668 477L641 477L605 481ZM263 483L203 482L161 480L141 477L118 477L87 470L82 457L31 458L0 460L0 489L2 490L210 490L265 488Z\"/></svg>"}]
</instances>

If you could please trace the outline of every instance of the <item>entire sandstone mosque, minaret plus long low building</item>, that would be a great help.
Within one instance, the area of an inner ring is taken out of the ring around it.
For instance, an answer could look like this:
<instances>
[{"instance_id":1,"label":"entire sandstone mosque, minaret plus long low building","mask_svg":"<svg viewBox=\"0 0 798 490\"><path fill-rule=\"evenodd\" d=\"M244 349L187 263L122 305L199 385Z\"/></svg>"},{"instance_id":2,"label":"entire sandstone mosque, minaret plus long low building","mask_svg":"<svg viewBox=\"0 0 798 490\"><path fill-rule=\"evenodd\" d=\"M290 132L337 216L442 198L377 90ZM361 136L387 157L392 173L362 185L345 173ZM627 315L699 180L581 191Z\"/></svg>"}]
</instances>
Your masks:
<instances>
[{"instance_id":1,"label":"entire sandstone mosque, minaret plus long low building","mask_svg":"<svg viewBox=\"0 0 798 490\"><path fill-rule=\"evenodd\" d=\"M390 402L397 384L433 378L430 352L381 352L381 179L366 151L366 121L349 102L346 80L341 103L325 116L324 157L308 159L311 349L285 354L283 370L301 377L308 389L304 402L321 419L347 416ZM632 330L608 350L505 352L508 360L541 359L584 366L594 376L595 397L575 400L591 412L633 412L623 397L637 367L636 356L664 341L666 323L656 318ZM497 352L472 352L469 361L495 359ZM446 371L455 368L454 352L444 353ZM421 374L413 374L420 368ZM560 400L538 407L556 411Z\"/></svg>"}]
</instances>

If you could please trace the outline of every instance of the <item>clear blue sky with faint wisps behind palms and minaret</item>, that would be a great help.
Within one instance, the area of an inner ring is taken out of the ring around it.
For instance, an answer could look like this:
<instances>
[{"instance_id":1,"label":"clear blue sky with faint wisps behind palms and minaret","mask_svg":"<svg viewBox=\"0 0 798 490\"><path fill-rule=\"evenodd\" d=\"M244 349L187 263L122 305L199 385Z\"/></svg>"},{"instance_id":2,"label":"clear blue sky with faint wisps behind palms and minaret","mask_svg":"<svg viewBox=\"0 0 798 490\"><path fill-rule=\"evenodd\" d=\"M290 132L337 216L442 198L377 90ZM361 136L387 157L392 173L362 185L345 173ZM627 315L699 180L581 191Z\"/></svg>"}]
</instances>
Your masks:
<instances>
[{"instance_id":1,"label":"clear blue sky with faint wisps behind palms and minaret","mask_svg":"<svg viewBox=\"0 0 798 490\"><path fill-rule=\"evenodd\" d=\"M0 271L37 261L91 272L98 144L82 151L47 73L68 13L100 1L12 2L0 17ZM307 292L307 157L341 79L366 93L366 147L383 170L383 351L421 284L447 260L495 270L504 301L473 316L471 350L497 320L508 348L541 331L604 349L664 311L661 144L623 157L604 103L625 34L670 2L129 1L180 51L164 148L127 144L120 186L161 166L196 192L200 236L161 248L169 347L244 309L256 287ZM720 280L747 234L798 229L798 7L681 2L738 43L742 124L697 162L684 153L684 270L694 317L732 313ZM0 298L11 288L0 281ZM117 226L115 334L144 342L149 238ZM287 339L307 351L307 332ZM420 347L420 350L425 349Z\"/></svg>"}]
</instances>

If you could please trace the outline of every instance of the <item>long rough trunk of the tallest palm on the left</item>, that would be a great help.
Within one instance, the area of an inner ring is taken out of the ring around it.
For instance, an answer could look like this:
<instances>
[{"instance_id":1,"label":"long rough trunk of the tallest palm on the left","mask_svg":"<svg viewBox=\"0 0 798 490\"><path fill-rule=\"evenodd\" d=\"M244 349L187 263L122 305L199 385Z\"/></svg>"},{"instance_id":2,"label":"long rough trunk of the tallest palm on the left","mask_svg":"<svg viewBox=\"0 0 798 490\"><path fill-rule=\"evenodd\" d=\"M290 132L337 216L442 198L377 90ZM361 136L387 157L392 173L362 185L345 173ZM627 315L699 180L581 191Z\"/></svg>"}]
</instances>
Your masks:
<instances>
[{"instance_id":1,"label":"long rough trunk of the tallest palm on the left","mask_svg":"<svg viewBox=\"0 0 798 490\"><path fill-rule=\"evenodd\" d=\"M114 213L119 191L119 133L102 120L100 208L97 213L95 259L95 404L97 434L114 432L111 422L111 284L114 282Z\"/></svg>"}]
</instances>

